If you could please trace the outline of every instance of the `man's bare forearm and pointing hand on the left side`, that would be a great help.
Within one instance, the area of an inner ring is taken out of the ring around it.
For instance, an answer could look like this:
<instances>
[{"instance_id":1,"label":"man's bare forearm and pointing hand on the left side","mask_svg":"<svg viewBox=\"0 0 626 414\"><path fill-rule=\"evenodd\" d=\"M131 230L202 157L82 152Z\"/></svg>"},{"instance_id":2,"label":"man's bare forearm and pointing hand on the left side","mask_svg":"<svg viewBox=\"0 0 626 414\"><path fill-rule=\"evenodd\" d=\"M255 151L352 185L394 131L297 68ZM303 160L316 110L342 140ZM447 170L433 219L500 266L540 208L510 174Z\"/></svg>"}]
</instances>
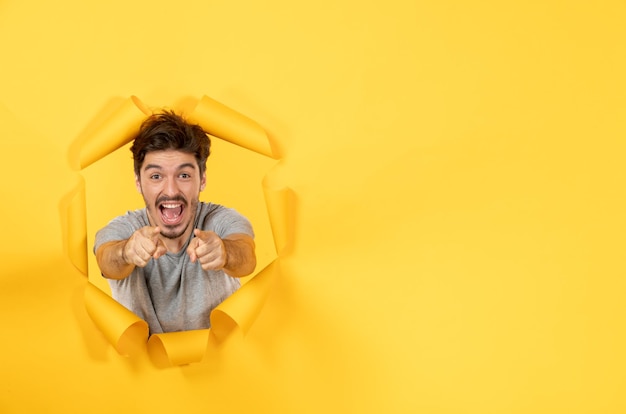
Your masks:
<instances>
[{"instance_id":1,"label":"man's bare forearm and pointing hand on the left side","mask_svg":"<svg viewBox=\"0 0 626 414\"><path fill-rule=\"evenodd\" d=\"M127 240L116 240L102 244L96 250L100 272L108 279L124 279L135 266L145 267L150 259L158 259L167 252L159 239L158 227L142 227Z\"/></svg>"}]
</instances>

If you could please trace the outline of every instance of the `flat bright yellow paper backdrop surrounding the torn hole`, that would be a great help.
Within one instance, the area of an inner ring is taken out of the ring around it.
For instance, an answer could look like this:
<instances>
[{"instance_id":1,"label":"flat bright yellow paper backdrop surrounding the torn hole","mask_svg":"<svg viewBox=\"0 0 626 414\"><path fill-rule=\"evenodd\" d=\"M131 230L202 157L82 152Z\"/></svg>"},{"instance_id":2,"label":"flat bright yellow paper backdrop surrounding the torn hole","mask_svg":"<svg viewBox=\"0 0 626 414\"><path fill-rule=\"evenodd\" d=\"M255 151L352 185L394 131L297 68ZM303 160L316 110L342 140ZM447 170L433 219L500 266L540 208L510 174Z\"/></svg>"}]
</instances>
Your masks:
<instances>
[{"instance_id":1,"label":"flat bright yellow paper backdrop surrounding the torn hole","mask_svg":"<svg viewBox=\"0 0 626 414\"><path fill-rule=\"evenodd\" d=\"M625 21L623 1L0 1L0 412L625 412ZM255 325L200 364L117 355L63 250L70 145L133 94L254 119L297 198Z\"/></svg>"}]
</instances>

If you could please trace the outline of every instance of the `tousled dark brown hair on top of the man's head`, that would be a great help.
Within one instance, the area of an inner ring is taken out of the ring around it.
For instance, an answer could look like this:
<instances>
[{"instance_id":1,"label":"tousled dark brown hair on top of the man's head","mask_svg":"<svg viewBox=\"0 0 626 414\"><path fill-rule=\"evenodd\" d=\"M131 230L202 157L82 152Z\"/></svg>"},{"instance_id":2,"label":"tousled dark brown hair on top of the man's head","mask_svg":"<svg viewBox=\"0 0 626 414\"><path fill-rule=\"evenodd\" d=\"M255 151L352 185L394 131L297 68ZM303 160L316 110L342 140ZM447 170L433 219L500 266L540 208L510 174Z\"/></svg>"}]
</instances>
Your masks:
<instances>
[{"instance_id":1,"label":"tousled dark brown hair on top of the man's head","mask_svg":"<svg viewBox=\"0 0 626 414\"><path fill-rule=\"evenodd\" d=\"M211 139L200 125L188 123L174 111L152 114L141 124L130 148L135 174L139 176L147 153L169 149L193 154L203 174L211 153Z\"/></svg>"}]
</instances>

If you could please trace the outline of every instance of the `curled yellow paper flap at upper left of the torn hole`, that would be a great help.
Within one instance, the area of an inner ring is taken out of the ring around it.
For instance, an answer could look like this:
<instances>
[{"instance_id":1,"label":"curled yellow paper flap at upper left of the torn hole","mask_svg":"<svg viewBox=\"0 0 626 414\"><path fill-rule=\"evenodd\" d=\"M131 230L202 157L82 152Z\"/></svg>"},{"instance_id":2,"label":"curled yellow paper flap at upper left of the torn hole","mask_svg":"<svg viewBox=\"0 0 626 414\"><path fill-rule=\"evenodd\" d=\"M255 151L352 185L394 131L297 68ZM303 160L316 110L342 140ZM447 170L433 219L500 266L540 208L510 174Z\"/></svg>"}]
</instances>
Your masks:
<instances>
[{"instance_id":1,"label":"curled yellow paper flap at upper left of the torn hole","mask_svg":"<svg viewBox=\"0 0 626 414\"><path fill-rule=\"evenodd\" d=\"M130 97L104 120L83 142L80 168L85 168L132 141L146 118L147 108L136 97Z\"/></svg>"}]
</instances>

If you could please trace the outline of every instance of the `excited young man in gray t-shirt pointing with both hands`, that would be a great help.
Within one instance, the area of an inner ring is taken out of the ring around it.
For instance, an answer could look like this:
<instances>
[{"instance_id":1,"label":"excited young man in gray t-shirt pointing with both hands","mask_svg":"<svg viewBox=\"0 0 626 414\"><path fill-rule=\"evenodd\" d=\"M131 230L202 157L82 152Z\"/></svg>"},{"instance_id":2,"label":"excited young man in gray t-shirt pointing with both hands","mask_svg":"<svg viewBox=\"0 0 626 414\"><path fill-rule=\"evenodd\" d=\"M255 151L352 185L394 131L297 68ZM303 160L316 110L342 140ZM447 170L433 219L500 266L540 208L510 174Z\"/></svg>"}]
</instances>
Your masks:
<instances>
[{"instance_id":1,"label":"excited young man in gray t-shirt pointing with both hands","mask_svg":"<svg viewBox=\"0 0 626 414\"><path fill-rule=\"evenodd\" d=\"M113 298L151 333L209 328L211 311L256 266L250 222L199 201L210 147L200 126L174 112L148 117L131 147L146 207L96 234L94 252Z\"/></svg>"}]
</instances>

